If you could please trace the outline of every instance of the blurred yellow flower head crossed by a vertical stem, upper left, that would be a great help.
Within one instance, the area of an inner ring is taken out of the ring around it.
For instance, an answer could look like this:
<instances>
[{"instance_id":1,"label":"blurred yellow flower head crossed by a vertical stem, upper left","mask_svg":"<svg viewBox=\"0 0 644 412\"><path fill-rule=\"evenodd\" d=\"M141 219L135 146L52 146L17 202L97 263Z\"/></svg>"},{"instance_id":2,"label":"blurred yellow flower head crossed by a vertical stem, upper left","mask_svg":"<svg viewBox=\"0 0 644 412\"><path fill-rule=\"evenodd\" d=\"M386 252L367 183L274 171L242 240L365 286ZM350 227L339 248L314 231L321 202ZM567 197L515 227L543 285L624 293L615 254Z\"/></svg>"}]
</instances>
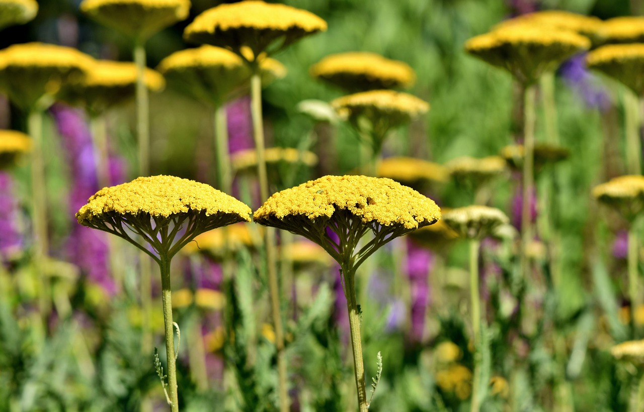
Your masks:
<instances>
[{"instance_id":1,"label":"blurred yellow flower head crossed by a vertical stem, upper left","mask_svg":"<svg viewBox=\"0 0 644 412\"><path fill-rule=\"evenodd\" d=\"M152 69L146 69L144 82L154 92L166 86L163 76ZM58 97L73 105L84 105L88 112L97 115L134 98L136 85L135 64L96 60L81 82L62 87Z\"/></svg>"}]
</instances>

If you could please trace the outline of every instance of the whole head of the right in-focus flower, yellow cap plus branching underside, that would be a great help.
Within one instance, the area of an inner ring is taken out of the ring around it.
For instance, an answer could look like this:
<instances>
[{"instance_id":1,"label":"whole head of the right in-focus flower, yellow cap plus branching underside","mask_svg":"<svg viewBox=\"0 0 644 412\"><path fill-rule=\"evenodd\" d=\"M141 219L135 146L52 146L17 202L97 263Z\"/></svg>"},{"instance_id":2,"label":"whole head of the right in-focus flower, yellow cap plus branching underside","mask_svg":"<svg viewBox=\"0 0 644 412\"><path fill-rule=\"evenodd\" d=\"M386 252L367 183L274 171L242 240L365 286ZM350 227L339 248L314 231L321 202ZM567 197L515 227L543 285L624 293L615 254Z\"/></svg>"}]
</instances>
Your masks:
<instances>
[{"instance_id":1,"label":"whole head of the right in-focus flower, yellow cap plus branching underside","mask_svg":"<svg viewBox=\"0 0 644 412\"><path fill-rule=\"evenodd\" d=\"M275 193L253 217L264 226L316 242L350 271L393 238L437 222L440 209L391 179L347 175L325 176ZM368 231L374 239L356 253L358 241Z\"/></svg>"}]
</instances>

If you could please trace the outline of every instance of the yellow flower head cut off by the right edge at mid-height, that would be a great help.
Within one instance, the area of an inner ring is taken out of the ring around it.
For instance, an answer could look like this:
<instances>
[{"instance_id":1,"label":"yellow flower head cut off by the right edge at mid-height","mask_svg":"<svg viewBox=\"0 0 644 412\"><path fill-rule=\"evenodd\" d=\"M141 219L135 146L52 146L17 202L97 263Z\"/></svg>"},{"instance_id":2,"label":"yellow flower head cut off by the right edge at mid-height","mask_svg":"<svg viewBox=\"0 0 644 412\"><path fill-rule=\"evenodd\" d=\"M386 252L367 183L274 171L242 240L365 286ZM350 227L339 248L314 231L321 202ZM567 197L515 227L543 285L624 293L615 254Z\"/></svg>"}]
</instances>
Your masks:
<instances>
[{"instance_id":1,"label":"yellow flower head cut off by the right edge at mid-height","mask_svg":"<svg viewBox=\"0 0 644 412\"><path fill-rule=\"evenodd\" d=\"M644 210L644 176L615 177L595 186L592 195L631 222Z\"/></svg>"}]
</instances>

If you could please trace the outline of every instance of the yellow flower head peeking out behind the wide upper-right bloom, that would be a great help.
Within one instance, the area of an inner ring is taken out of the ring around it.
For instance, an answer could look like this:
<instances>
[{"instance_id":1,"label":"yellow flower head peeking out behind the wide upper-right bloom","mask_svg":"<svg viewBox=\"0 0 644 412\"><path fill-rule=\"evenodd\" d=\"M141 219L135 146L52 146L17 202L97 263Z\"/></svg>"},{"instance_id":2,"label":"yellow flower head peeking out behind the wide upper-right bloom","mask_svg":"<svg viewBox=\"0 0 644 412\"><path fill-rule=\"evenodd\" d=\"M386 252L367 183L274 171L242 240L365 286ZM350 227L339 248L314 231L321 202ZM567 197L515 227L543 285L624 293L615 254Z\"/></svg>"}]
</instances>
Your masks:
<instances>
[{"instance_id":1,"label":"yellow flower head peeking out behind the wide upper-right bloom","mask_svg":"<svg viewBox=\"0 0 644 412\"><path fill-rule=\"evenodd\" d=\"M579 33L593 42L599 41L603 22L594 16L565 12L564 10L542 10L535 13L522 14L513 19L506 20L495 26L495 29L507 28L516 25L532 25L548 30L569 30Z\"/></svg>"}]
</instances>

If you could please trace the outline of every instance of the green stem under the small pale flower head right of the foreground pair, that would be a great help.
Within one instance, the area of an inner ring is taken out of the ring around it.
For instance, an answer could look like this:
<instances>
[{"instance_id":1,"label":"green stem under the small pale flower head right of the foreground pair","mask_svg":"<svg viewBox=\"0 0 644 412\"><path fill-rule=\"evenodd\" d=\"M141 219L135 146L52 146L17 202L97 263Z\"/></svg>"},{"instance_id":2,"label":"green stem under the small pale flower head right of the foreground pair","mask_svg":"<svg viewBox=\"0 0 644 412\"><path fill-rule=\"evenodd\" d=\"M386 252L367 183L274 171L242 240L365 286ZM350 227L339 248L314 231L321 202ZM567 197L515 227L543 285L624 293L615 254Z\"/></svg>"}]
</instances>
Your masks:
<instances>
[{"instance_id":1,"label":"green stem under the small pale flower head right of the foreground pair","mask_svg":"<svg viewBox=\"0 0 644 412\"><path fill-rule=\"evenodd\" d=\"M469 300L471 304L472 332L474 350L478 352L480 344L481 328L481 304L480 294L478 291L478 248L480 240L469 240ZM474 356L474 381L472 382L472 402L469 410L478 412L480 409L480 399L478 399L478 379L480 378L480 356Z\"/></svg>"}]
</instances>

